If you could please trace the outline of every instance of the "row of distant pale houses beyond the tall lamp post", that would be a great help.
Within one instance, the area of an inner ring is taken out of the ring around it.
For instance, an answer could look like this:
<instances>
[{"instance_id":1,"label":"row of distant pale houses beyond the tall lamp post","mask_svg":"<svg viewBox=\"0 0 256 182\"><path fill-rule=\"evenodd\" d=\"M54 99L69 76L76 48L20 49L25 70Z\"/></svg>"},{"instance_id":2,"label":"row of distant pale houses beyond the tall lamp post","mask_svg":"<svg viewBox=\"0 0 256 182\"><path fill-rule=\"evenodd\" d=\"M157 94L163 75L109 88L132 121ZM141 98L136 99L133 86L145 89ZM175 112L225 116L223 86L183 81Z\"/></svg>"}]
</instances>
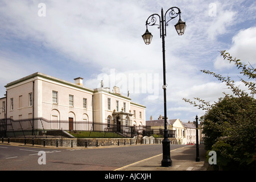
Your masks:
<instances>
[{"instance_id":1,"label":"row of distant pale houses beyond the tall lamp post","mask_svg":"<svg viewBox=\"0 0 256 182\"><path fill-rule=\"evenodd\" d=\"M151 130L158 134L159 131L164 130L164 116L159 115L159 118L154 120L150 117L149 121L146 121L146 127L151 127ZM176 143L179 144L195 144L196 143L196 126L193 123L181 122L180 119L168 119L167 118L167 130L173 133L172 137L175 138ZM199 125L199 143L203 141L201 138L201 129Z\"/></svg>"}]
</instances>

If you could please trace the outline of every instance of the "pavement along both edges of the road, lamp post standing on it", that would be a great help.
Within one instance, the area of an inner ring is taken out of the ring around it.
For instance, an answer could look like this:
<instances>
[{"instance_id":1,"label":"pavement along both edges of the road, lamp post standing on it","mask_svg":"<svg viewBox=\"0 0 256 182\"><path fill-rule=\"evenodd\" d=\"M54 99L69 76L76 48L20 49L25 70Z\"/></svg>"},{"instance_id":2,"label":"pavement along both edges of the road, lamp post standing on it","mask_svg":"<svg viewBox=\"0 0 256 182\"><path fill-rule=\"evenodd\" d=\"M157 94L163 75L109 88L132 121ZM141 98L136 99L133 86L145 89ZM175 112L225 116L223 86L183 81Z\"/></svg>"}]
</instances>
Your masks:
<instances>
[{"instance_id":1,"label":"pavement along both edges of the road, lamp post standing on it","mask_svg":"<svg viewBox=\"0 0 256 182\"><path fill-rule=\"evenodd\" d=\"M7 143L1 143L7 144ZM32 146L32 144L24 145L22 143L10 142L10 145L13 146L27 146L27 147L42 147L42 146ZM105 146L111 147L111 146ZM117 146L112 146L117 147ZM122 147L122 146L120 146ZM46 146L44 148L56 148L53 146ZM71 147L59 147L59 148L71 148ZM81 147L73 147L81 148ZM101 147L88 147L88 148L101 148ZM193 145L184 145L184 147L176 148L171 150L171 167L162 167L161 161L163 155L159 154L140 160L133 164L123 166L121 168L115 169L114 171L213 171L213 168L209 166L209 163L206 160L206 150L204 149L204 144L199 145L199 157L200 162L196 162L196 146Z\"/></svg>"}]
</instances>

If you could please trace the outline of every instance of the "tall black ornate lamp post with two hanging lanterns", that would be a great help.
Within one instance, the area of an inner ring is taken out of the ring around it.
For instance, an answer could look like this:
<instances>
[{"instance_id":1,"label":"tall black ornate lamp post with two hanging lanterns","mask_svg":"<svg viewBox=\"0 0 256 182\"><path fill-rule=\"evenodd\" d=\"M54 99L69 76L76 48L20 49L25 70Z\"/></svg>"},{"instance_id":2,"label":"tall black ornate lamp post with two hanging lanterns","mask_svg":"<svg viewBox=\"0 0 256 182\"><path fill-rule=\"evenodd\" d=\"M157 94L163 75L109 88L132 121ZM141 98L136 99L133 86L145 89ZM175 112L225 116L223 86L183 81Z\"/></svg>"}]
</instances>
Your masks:
<instances>
[{"instance_id":1,"label":"tall black ornate lamp post with two hanging lanterns","mask_svg":"<svg viewBox=\"0 0 256 182\"><path fill-rule=\"evenodd\" d=\"M160 29L160 38L162 38L162 48L163 48L163 90L164 90L164 139L162 141L163 144L163 160L162 167L170 167L172 166L172 160L170 155L170 140L168 139L168 130L167 130L167 111L166 111L166 55L165 55L165 43L164 37L166 36L166 27L168 26L168 22L174 19L179 15L179 21L175 24L175 28L178 35L183 35L186 24L180 19L181 11L178 7L171 7L163 13L163 8L161 10L161 16L158 14L150 15L146 20L146 32L142 35L142 38L146 45L151 43L152 34L148 31L147 26L158 26ZM167 15L167 16L166 16ZM158 21L158 18L159 21Z\"/></svg>"}]
</instances>

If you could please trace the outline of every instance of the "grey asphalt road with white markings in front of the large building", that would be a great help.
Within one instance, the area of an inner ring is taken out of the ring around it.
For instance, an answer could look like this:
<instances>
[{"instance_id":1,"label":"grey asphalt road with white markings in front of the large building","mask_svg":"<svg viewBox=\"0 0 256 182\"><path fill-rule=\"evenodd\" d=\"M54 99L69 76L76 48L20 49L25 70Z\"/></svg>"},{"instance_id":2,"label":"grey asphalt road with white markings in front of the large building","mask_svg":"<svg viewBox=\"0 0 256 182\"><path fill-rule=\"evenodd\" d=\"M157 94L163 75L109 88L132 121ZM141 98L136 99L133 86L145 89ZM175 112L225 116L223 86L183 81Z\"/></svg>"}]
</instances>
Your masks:
<instances>
[{"instance_id":1,"label":"grey asphalt road with white markings in front of the large building","mask_svg":"<svg viewBox=\"0 0 256 182\"><path fill-rule=\"evenodd\" d=\"M183 145L171 145L171 150ZM45 152L46 164L43 161ZM0 144L0 170L112 171L162 154L162 144L98 148L39 148ZM41 160L42 159L42 160Z\"/></svg>"}]
</instances>

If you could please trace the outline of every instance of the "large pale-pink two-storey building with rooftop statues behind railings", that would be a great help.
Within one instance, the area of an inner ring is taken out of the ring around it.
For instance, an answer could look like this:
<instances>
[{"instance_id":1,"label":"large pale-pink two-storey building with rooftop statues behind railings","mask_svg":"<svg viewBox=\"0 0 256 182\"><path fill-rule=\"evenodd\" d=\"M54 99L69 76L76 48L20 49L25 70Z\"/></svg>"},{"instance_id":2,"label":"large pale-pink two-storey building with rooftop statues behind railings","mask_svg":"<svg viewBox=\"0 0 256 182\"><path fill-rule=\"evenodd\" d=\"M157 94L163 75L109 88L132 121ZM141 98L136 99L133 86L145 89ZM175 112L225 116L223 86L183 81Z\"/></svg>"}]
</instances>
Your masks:
<instances>
[{"instance_id":1,"label":"large pale-pink two-storey building with rooftop statues behind railings","mask_svg":"<svg viewBox=\"0 0 256 182\"><path fill-rule=\"evenodd\" d=\"M36 72L7 84L0 98L0 130L114 130L125 133L145 125L146 107L122 96L119 88L90 89L83 78L68 82ZM5 120L19 121L5 123ZM40 120L38 119L40 118ZM20 121L27 121L20 122ZM67 121L67 122L60 122ZM5 123L5 124L4 124ZM98 124L98 125L96 125Z\"/></svg>"}]
</instances>

